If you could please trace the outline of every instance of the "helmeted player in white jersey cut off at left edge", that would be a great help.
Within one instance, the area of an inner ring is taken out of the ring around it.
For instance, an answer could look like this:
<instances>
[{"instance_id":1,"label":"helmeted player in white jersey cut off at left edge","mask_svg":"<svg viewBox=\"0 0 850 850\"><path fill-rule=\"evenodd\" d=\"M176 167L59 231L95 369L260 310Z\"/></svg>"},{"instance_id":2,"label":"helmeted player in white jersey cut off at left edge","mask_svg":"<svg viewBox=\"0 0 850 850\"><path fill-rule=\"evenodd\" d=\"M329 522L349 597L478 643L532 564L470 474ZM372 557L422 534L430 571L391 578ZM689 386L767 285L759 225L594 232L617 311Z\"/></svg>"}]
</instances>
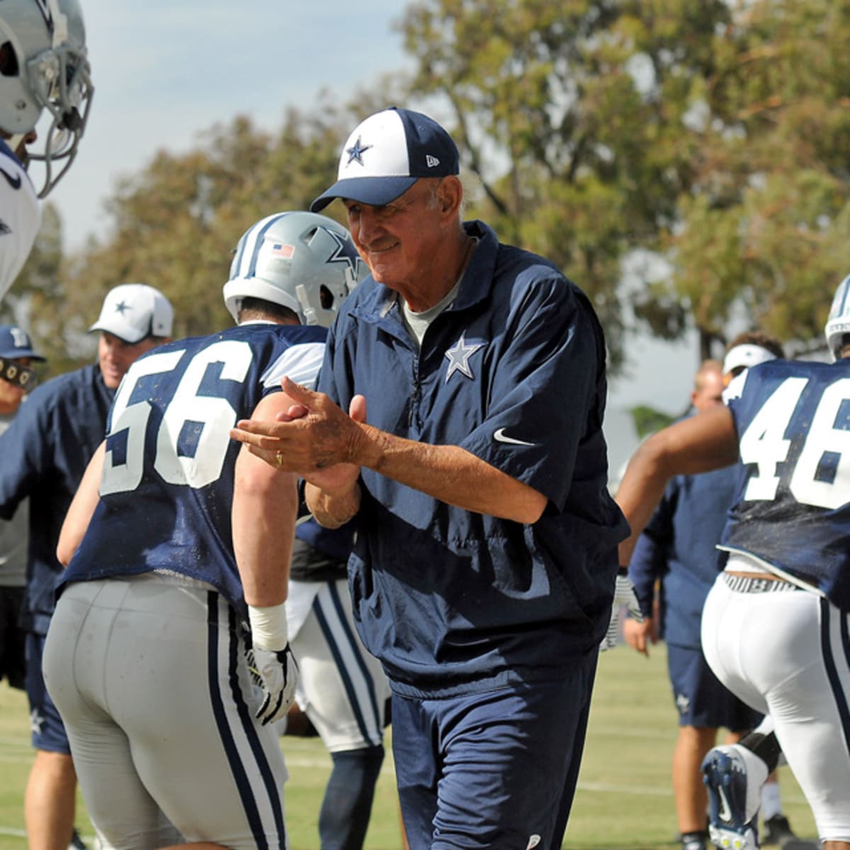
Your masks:
<instances>
[{"instance_id":1,"label":"helmeted player in white jersey cut off at left edge","mask_svg":"<svg viewBox=\"0 0 850 850\"><path fill-rule=\"evenodd\" d=\"M94 87L77 0L0 3L0 298L29 256L45 197L77 156ZM36 151L36 125L50 123ZM26 173L41 161L36 189Z\"/></svg>"}]
</instances>

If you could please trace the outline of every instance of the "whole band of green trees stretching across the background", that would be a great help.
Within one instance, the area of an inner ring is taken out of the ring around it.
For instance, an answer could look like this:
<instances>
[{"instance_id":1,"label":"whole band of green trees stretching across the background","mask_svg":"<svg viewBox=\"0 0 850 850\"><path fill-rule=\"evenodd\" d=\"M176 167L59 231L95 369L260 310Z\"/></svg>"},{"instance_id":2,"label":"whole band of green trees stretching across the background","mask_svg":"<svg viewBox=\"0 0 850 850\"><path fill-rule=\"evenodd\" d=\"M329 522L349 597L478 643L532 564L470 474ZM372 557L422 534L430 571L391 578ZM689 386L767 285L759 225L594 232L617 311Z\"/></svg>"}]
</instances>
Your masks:
<instances>
[{"instance_id":1,"label":"whole band of green trees stretching across the background","mask_svg":"<svg viewBox=\"0 0 850 850\"><path fill-rule=\"evenodd\" d=\"M693 323L706 348L733 310L792 352L819 340L850 269L846 3L419 0L397 26L409 79L347 105L322 93L275 133L237 116L189 153L157 152L116 186L111 229L78 256L61 256L46 212L7 314L37 322L54 365L90 356L81 333L128 280L173 299L178 334L227 324L239 235L305 207L354 123L409 103L456 138L470 217L592 297L612 371L630 332L673 339Z\"/></svg>"}]
</instances>

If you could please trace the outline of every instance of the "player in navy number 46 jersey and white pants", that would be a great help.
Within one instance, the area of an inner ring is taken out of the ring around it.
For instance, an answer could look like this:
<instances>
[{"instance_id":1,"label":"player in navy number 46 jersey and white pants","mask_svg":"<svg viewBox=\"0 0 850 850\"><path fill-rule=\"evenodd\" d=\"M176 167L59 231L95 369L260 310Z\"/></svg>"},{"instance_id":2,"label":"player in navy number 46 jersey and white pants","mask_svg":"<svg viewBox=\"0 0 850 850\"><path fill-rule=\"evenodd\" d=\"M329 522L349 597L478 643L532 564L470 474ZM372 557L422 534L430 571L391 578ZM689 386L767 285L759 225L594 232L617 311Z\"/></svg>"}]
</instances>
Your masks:
<instances>
[{"instance_id":1,"label":"player in navy number 46 jersey and white pants","mask_svg":"<svg viewBox=\"0 0 850 850\"><path fill-rule=\"evenodd\" d=\"M718 679L768 714L828 850L850 848L850 277L825 333L835 364L770 360L736 378L718 406L649 438L617 501L632 525L621 563L674 474L740 460L703 610L703 651ZM736 386L736 382L739 383ZM774 756L776 753L774 753ZM704 771L718 847L758 847L758 791L772 763L712 751Z\"/></svg>"}]
</instances>

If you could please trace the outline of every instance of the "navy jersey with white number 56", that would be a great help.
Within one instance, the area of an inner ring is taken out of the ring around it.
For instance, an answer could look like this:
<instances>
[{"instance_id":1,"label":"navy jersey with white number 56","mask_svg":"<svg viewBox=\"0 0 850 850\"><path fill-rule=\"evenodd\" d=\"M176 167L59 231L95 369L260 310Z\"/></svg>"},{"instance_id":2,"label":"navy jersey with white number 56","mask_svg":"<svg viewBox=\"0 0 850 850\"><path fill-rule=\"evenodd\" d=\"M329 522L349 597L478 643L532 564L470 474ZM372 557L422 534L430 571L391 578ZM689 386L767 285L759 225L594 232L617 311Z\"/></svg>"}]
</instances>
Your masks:
<instances>
[{"instance_id":1,"label":"navy jersey with white number 56","mask_svg":"<svg viewBox=\"0 0 850 850\"><path fill-rule=\"evenodd\" d=\"M316 326L247 323L136 360L110 413L100 501L65 581L178 572L207 581L245 616L230 526L241 444L229 430L284 375L312 386L325 336Z\"/></svg>"}]
</instances>

